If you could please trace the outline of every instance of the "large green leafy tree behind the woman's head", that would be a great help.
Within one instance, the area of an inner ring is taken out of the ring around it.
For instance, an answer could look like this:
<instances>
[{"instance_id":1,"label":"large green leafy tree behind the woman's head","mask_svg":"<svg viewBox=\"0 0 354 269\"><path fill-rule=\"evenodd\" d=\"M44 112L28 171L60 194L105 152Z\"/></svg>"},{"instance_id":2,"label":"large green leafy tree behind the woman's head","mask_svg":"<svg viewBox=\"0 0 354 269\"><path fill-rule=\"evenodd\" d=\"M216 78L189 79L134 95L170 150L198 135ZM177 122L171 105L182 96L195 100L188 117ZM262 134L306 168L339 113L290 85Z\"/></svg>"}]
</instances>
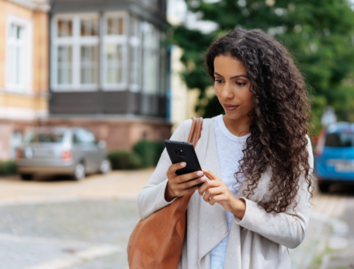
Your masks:
<instances>
[{"instance_id":1,"label":"large green leafy tree behind the woman's head","mask_svg":"<svg viewBox=\"0 0 354 269\"><path fill-rule=\"evenodd\" d=\"M185 25L173 28L173 42L184 50L181 61L186 68L181 75L188 88L200 90L198 114L223 113L216 97L207 97L213 81L206 73L203 54L213 39L240 26L273 35L294 56L310 92L317 132L326 105L334 106L339 120L353 118L354 86L346 83L354 77L354 12L349 0L185 1L189 11L218 26L208 34Z\"/></svg>"}]
</instances>

